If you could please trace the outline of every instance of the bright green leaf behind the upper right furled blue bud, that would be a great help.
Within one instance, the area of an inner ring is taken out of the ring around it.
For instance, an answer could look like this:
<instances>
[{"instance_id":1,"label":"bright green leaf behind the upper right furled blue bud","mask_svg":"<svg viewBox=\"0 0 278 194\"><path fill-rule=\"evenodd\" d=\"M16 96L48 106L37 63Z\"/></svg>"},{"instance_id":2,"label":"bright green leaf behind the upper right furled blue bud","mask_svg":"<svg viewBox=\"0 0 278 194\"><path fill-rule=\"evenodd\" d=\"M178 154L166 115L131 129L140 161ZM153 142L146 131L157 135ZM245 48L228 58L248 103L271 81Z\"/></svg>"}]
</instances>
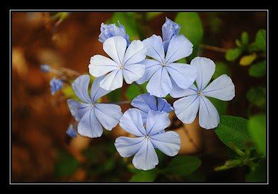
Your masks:
<instances>
[{"instance_id":1,"label":"bright green leaf behind the upper right furled blue bud","mask_svg":"<svg viewBox=\"0 0 278 194\"><path fill-rule=\"evenodd\" d=\"M183 34L193 44L193 53L188 56L192 60L196 54L199 44L203 38L203 26L198 13L195 12L179 12L174 22L181 25L179 34Z\"/></svg>"}]
</instances>

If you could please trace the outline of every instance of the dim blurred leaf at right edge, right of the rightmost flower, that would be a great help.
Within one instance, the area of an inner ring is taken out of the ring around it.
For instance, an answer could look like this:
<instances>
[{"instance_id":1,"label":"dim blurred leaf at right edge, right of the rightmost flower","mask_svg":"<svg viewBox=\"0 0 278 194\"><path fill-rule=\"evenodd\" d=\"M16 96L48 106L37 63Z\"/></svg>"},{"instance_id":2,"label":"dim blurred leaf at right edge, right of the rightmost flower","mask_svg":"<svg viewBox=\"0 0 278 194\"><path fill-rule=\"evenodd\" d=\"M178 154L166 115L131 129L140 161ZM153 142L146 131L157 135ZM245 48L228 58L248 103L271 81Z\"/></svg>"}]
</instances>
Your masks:
<instances>
[{"instance_id":1,"label":"dim blurred leaf at right edge, right of the rightmost flower","mask_svg":"<svg viewBox=\"0 0 278 194\"><path fill-rule=\"evenodd\" d=\"M246 94L251 105L256 105L259 108L265 108L266 90L264 87L250 88Z\"/></svg>"}]
</instances>

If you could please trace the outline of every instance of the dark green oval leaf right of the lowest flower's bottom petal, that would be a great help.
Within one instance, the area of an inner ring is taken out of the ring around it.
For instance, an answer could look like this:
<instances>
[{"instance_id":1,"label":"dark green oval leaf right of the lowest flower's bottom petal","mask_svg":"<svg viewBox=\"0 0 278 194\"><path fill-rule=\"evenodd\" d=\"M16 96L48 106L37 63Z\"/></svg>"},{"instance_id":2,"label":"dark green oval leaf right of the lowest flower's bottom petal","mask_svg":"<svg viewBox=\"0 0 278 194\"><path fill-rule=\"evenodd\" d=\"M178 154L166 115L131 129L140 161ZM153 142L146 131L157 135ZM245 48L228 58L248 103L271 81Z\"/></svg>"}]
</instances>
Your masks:
<instances>
[{"instance_id":1,"label":"dark green oval leaf right of the lowest flower's bottom petal","mask_svg":"<svg viewBox=\"0 0 278 194\"><path fill-rule=\"evenodd\" d=\"M173 175L187 176L197 170L201 163L195 156L175 156L164 170Z\"/></svg>"}]
</instances>

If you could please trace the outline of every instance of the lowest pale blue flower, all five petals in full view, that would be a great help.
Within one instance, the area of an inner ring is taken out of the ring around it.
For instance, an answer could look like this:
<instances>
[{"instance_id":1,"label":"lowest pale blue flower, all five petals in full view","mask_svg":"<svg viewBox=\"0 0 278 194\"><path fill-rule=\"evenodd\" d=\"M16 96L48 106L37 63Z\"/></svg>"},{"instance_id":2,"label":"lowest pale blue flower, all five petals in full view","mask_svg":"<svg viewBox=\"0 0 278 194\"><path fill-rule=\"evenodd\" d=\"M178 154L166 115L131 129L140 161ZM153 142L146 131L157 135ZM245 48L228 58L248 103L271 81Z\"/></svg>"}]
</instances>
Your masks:
<instances>
[{"instance_id":1,"label":"lowest pale blue flower, all five petals in full view","mask_svg":"<svg viewBox=\"0 0 278 194\"><path fill-rule=\"evenodd\" d=\"M158 164L155 148L167 156L175 156L181 148L181 138L174 131L164 132L169 126L169 113L149 110L146 128L137 108L130 108L120 119L120 127L137 136L136 138L118 137L115 147L122 157L135 154L132 163L137 169L151 170ZM162 133L161 133L162 132Z\"/></svg>"}]
</instances>

